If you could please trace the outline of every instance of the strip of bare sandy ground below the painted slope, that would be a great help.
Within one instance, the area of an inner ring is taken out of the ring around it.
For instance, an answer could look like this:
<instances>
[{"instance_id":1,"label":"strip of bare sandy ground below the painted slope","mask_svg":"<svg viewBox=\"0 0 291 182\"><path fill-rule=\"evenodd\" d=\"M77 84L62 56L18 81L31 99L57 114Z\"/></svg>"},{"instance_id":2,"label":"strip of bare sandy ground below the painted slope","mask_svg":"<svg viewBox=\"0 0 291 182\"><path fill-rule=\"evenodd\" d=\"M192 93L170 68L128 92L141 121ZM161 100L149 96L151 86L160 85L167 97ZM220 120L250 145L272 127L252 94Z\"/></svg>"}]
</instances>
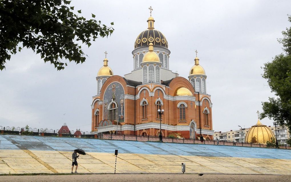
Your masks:
<instances>
[{"instance_id":1,"label":"strip of bare sandy ground below the painted slope","mask_svg":"<svg viewBox=\"0 0 291 182\"><path fill-rule=\"evenodd\" d=\"M40 181L40 182L134 182L134 181L291 181L291 175L251 175L251 174L73 174L73 175L36 175L36 176L0 176L0 181Z\"/></svg>"}]
</instances>

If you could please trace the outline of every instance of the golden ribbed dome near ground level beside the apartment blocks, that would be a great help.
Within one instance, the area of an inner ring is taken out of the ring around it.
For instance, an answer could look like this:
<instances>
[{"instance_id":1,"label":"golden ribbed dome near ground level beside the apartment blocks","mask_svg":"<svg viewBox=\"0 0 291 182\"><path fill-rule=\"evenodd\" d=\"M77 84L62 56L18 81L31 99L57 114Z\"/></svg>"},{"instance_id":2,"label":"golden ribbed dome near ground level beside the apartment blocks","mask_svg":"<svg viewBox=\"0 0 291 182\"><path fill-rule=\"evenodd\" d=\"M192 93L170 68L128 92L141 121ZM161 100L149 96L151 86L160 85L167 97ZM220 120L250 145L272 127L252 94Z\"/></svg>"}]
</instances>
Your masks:
<instances>
[{"instance_id":1,"label":"golden ribbed dome near ground level beside the apartment blocks","mask_svg":"<svg viewBox=\"0 0 291 182\"><path fill-rule=\"evenodd\" d=\"M263 125L258 119L257 124L247 132L245 141L249 143L267 143L267 141L271 142L271 137L275 138L272 130Z\"/></svg>"}]
</instances>

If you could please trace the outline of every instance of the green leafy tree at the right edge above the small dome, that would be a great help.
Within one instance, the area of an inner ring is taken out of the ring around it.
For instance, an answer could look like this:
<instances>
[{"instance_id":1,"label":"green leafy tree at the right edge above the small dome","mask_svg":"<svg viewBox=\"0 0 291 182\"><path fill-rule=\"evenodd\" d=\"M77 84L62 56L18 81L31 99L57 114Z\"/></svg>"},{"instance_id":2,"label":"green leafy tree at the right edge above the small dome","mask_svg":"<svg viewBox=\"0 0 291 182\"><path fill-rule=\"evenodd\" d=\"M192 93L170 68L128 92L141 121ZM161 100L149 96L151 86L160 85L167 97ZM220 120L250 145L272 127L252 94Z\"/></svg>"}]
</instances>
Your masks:
<instances>
[{"instance_id":1,"label":"green leafy tree at the right edge above the small dome","mask_svg":"<svg viewBox=\"0 0 291 182\"><path fill-rule=\"evenodd\" d=\"M288 18L291 22L291 15ZM276 98L269 97L269 102L262 102L260 119L268 117L291 131L291 27L282 34L284 38L278 41L283 44L286 54L277 55L272 62L265 63L262 74Z\"/></svg>"}]
</instances>

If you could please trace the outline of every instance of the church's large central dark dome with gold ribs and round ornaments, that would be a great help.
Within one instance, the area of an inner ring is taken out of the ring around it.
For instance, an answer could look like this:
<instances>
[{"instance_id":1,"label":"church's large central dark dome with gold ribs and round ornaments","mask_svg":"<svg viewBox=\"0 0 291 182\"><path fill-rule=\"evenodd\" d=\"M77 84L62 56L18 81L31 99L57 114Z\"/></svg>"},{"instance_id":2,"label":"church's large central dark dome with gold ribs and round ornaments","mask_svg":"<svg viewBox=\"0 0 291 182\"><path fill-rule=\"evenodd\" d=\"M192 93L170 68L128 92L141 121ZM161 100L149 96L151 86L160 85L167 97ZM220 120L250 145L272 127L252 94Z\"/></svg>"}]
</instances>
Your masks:
<instances>
[{"instance_id":1,"label":"church's large central dark dome with gold ribs and round ornaments","mask_svg":"<svg viewBox=\"0 0 291 182\"><path fill-rule=\"evenodd\" d=\"M168 48L168 41L162 32L154 27L154 18L148 18L148 29L142 31L134 42L134 48L148 47L152 43L155 47Z\"/></svg>"}]
</instances>

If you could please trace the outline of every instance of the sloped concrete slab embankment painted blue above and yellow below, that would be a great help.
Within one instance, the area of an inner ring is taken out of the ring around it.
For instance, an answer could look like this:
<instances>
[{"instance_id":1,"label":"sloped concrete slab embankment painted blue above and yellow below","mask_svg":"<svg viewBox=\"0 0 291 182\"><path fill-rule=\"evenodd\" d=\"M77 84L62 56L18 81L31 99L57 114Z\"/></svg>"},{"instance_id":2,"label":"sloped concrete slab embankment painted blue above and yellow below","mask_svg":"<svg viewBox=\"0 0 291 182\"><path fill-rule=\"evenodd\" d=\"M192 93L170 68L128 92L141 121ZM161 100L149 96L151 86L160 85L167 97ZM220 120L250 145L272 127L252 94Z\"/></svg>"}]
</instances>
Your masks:
<instances>
[{"instance_id":1,"label":"sloped concrete slab embankment painted blue above and yellow below","mask_svg":"<svg viewBox=\"0 0 291 182\"><path fill-rule=\"evenodd\" d=\"M72 151L79 173L291 175L291 150L203 144L0 135L0 174L70 173Z\"/></svg>"}]
</instances>

